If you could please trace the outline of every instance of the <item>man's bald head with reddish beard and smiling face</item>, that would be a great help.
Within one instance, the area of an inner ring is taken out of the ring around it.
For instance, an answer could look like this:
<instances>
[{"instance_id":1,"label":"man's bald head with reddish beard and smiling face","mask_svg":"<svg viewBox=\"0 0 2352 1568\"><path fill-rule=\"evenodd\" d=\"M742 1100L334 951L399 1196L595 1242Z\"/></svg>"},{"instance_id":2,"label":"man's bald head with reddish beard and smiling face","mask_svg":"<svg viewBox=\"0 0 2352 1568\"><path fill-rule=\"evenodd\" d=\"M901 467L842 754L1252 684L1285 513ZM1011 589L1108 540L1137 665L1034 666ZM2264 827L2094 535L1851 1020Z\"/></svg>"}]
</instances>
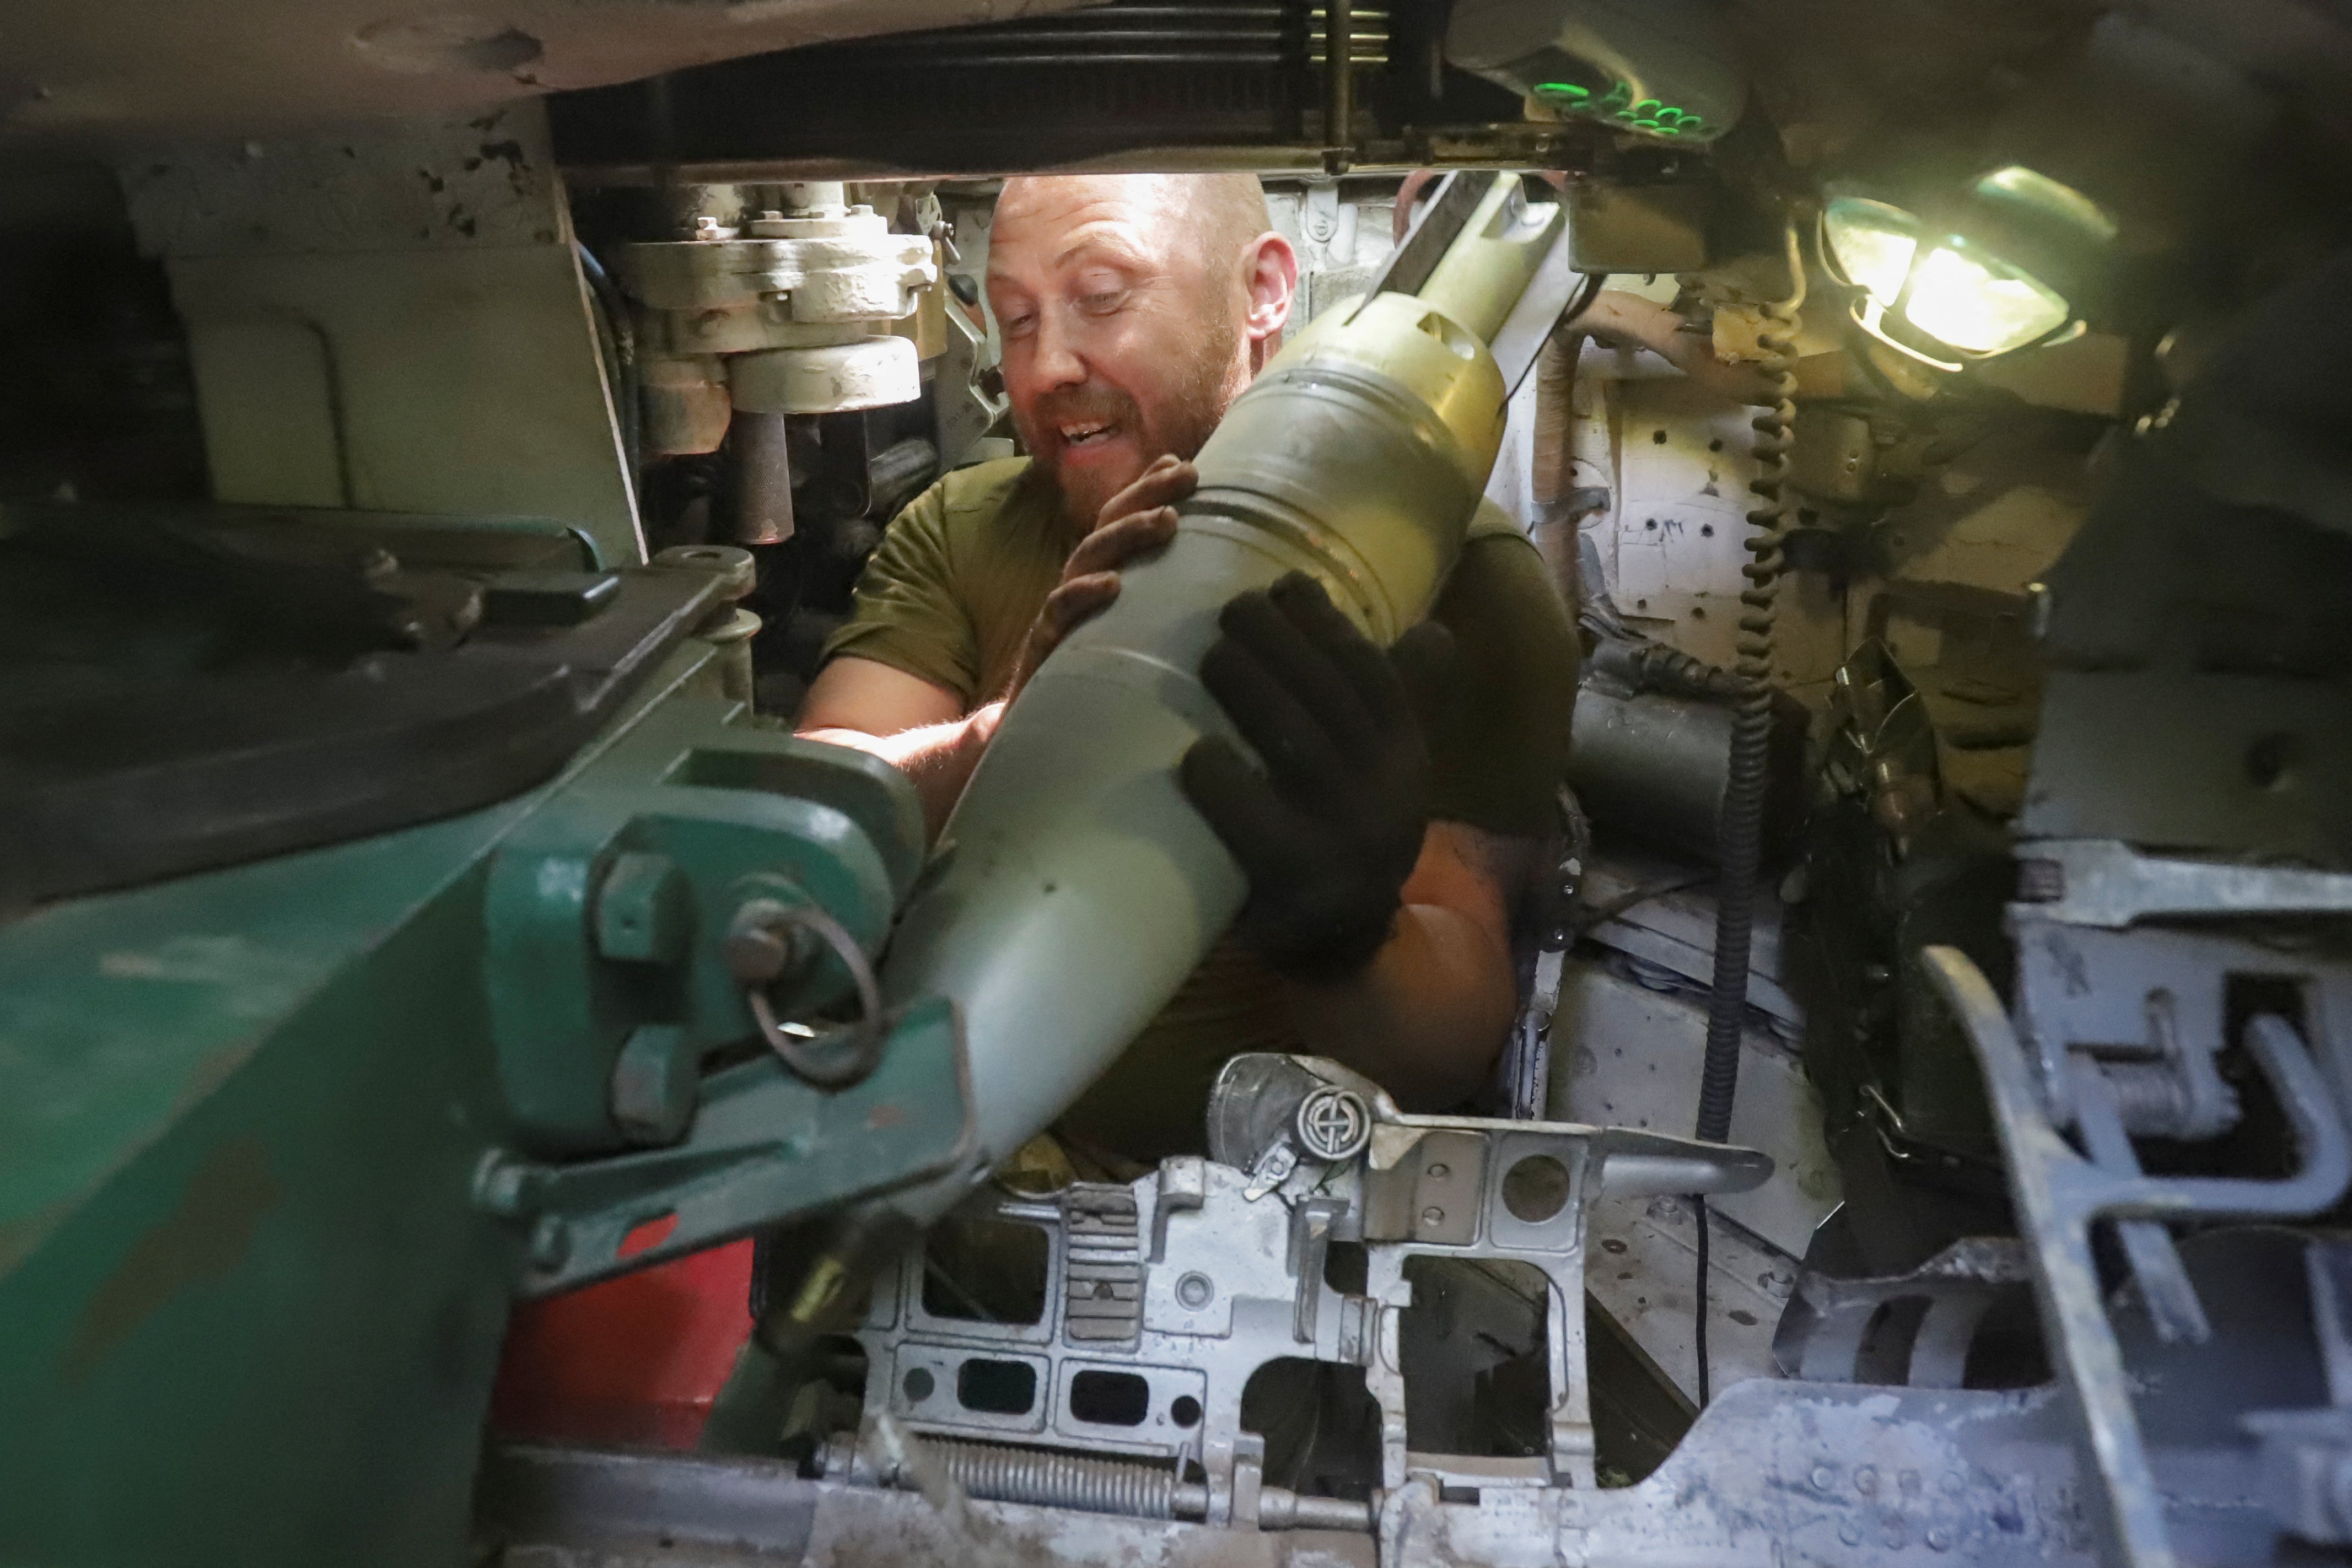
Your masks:
<instances>
[{"instance_id":1,"label":"man's bald head with reddish beard and smiling face","mask_svg":"<svg viewBox=\"0 0 2352 1568\"><path fill-rule=\"evenodd\" d=\"M1004 181L988 240L1004 388L1073 522L1152 458L1200 451L1279 346L1296 280L1256 174Z\"/></svg>"}]
</instances>

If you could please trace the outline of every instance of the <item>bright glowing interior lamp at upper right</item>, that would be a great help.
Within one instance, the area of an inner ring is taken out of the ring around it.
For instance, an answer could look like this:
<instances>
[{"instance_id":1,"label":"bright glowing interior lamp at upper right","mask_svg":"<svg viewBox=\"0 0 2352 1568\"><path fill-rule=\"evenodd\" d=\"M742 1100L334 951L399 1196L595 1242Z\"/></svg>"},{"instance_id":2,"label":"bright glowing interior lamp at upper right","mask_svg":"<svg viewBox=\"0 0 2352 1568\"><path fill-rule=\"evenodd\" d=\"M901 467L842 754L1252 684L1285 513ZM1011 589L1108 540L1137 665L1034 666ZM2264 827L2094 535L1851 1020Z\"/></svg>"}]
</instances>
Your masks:
<instances>
[{"instance_id":1,"label":"bright glowing interior lamp at upper right","mask_svg":"<svg viewBox=\"0 0 2352 1568\"><path fill-rule=\"evenodd\" d=\"M2034 169L2006 167L1933 212L1931 221L1860 195L1823 209L1823 259L1858 292L1856 324L1938 369L2082 331L2067 277L2086 277L2114 237L2096 202Z\"/></svg>"}]
</instances>

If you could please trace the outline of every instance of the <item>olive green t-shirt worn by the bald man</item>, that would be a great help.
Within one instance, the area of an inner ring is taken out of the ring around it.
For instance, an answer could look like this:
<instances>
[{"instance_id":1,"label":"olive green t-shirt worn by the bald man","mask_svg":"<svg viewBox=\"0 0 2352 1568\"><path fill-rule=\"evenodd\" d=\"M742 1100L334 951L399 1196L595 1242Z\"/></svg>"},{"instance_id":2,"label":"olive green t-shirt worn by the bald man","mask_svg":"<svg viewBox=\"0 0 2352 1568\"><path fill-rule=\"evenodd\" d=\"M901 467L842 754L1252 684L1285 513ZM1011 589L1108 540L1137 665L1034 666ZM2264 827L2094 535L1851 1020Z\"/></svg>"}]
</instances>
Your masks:
<instances>
[{"instance_id":1,"label":"olive green t-shirt worn by the bald man","mask_svg":"<svg viewBox=\"0 0 2352 1568\"><path fill-rule=\"evenodd\" d=\"M873 658L978 708L1011 679L1075 543L1028 458L960 468L889 524L826 658ZM1461 651L1456 701L1430 736L1432 813L1496 835L1548 835L1569 764L1578 644L1543 557L1508 520L1482 512L1430 618ZM1061 1126L1129 1159L1197 1152L1218 1067L1242 1051L1298 1048L1275 973L1218 943Z\"/></svg>"}]
</instances>

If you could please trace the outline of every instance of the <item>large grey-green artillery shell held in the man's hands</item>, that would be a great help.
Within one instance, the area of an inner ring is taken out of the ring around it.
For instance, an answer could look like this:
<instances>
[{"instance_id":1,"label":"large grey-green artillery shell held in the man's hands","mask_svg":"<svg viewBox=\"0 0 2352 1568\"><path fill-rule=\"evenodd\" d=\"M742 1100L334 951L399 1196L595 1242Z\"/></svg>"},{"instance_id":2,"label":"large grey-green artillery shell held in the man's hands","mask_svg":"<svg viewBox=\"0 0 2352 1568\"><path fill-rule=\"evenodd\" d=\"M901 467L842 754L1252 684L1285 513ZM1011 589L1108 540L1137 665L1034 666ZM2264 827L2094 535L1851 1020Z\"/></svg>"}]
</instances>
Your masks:
<instances>
[{"instance_id":1,"label":"large grey-green artillery shell held in the man's hands","mask_svg":"<svg viewBox=\"0 0 2352 1568\"><path fill-rule=\"evenodd\" d=\"M1235 736L1197 677L1223 604L1305 571L1392 642L1454 567L1503 395L1486 348L1416 296L1319 315L1202 447L1176 541L1007 712L884 969L889 1004L962 1013L974 1171L1077 1098L1242 907L1240 865L1176 785L1195 741ZM950 1187L913 1199L920 1218Z\"/></svg>"}]
</instances>

